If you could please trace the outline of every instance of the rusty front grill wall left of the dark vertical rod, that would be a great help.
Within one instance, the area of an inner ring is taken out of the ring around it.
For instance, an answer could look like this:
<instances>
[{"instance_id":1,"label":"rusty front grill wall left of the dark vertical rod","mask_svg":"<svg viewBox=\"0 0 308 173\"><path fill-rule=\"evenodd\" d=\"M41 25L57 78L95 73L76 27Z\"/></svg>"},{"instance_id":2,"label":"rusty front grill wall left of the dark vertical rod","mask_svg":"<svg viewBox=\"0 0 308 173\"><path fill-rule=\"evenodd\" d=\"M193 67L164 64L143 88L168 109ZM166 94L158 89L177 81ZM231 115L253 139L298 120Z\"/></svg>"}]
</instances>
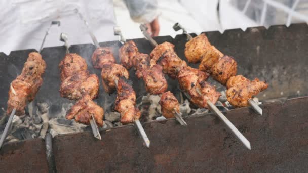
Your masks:
<instances>
[{"instance_id":1,"label":"rusty front grill wall left of the dark vertical rod","mask_svg":"<svg viewBox=\"0 0 308 173\"><path fill-rule=\"evenodd\" d=\"M4 145L0 150L0 172L48 172L44 140Z\"/></svg>"}]
</instances>

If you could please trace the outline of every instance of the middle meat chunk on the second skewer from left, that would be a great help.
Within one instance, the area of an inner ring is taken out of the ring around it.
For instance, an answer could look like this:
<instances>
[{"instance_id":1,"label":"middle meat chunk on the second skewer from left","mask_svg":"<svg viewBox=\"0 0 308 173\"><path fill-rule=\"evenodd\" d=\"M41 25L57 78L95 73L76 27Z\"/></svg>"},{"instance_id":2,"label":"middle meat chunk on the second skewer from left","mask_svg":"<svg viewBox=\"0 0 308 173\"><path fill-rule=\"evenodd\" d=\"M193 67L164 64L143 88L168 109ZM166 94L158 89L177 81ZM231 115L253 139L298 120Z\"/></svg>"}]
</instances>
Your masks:
<instances>
[{"instance_id":1,"label":"middle meat chunk on the second skewer from left","mask_svg":"<svg viewBox=\"0 0 308 173\"><path fill-rule=\"evenodd\" d=\"M62 81L60 86L61 97L70 100L79 100L82 94L87 93L91 99L97 98L99 94L99 79L96 74L89 71L79 71Z\"/></svg>"}]
</instances>

